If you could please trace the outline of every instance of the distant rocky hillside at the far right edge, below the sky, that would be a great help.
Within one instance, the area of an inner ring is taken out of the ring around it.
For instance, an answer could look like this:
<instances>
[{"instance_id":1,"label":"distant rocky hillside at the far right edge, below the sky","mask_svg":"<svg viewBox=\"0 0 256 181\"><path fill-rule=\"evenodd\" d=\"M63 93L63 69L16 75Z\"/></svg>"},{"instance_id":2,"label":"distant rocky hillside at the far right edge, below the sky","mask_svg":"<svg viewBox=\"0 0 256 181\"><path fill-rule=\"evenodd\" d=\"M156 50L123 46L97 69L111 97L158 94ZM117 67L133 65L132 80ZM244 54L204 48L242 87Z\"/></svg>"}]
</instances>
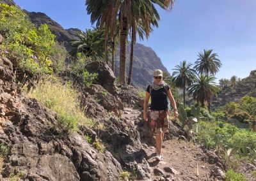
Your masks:
<instances>
[{"instance_id":1,"label":"distant rocky hillside at the far right edge, below the sky","mask_svg":"<svg viewBox=\"0 0 256 181\"><path fill-rule=\"evenodd\" d=\"M225 87L219 94L218 98L212 100L212 107L218 108L226 103L235 101L239 102L243 96L256 97L256 70L251 71L250 75L237 82L236 87Z\"/></svg>"}]
</instances>

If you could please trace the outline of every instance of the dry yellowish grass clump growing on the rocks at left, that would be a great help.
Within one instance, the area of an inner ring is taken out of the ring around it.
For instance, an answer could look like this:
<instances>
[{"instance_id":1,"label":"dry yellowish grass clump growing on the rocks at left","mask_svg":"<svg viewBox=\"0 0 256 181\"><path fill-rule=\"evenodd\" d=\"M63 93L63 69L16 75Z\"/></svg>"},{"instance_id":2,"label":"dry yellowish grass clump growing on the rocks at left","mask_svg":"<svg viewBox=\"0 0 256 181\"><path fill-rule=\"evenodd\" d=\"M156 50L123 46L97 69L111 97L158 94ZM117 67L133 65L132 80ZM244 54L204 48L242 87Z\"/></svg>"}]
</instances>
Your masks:
<instances>
[{"instance_id":1,"label":"dry yellowish grass clump growing on the rocks at left","mask_svg":"<svg viewBox=\"0 0 256 181\"><path fill-rule=\"evenodd\" d=\"M79 106L77 92L69 83L63 85L54 76L49 76L47 80L38 83L35 89L26 93L26 96L38 99L47 108L54 110L57 113L58 126L65 133L77 130L79 123L87 123L88 119Z\"/></svg>"}]
</instances>

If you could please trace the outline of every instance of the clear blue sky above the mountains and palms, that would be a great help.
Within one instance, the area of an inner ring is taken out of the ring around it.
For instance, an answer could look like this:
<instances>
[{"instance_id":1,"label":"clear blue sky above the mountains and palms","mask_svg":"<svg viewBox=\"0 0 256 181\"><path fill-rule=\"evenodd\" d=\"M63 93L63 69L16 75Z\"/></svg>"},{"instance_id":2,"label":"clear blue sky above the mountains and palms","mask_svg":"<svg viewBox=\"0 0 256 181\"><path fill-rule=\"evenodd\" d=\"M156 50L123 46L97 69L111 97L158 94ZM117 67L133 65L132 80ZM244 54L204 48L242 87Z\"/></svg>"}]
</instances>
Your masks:
<instances>
[{"instance_id":1,"label":"clear blue sky above the mountains and palms","mask_svg":"<svg viewBox=\"0 0 256 181\"><path fill-rule=\"evenodd\" d=\"M84 0L15 0L28 11L41 11L65 29L90 28ZM159 8L158 8L159 9ZM159 9L161 21L148 40L164 66L195 62L198 52L213 49L223 64L216 77L244 78L256 69L255 0L176 0L172 11Z\"/></svg>"}]
</instances>

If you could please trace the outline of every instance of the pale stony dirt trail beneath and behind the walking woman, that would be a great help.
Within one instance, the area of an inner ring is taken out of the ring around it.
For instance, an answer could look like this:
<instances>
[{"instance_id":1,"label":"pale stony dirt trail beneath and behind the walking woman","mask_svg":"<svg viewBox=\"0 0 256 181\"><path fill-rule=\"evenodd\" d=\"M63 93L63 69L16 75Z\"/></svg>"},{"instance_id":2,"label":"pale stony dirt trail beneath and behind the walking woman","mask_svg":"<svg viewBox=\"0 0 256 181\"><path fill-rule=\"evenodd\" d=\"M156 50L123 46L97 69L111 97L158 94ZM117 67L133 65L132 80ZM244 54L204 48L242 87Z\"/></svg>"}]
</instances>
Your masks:
<instances>
[{"instance_id":1,"label":"pale stony dirt trail beneath and behind the walking woman","mask_svg":"<svg viewBox=\"0 0 256 181\"><path fill-rule=\"evenodd\" d=\"M140 115L139 110L125 108L122 117L132 122ZM162 161L156 160L155 147L145 145L144 150L154 175L152 180L214 180L210 178L212 164L202 159L204 151L189 141L164 140Z\"/></svg>"}]
</instances>

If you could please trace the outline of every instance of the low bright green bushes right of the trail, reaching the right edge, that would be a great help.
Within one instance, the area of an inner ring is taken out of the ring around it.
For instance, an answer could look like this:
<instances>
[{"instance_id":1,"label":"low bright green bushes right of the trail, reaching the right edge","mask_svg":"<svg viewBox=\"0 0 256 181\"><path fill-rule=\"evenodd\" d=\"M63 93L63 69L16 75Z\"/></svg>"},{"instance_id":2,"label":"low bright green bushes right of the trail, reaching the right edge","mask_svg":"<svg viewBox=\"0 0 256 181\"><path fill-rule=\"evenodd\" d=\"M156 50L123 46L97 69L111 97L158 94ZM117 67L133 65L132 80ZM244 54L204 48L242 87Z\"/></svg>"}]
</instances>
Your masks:
<instances>
[{"instance_id":1,"label":"low bright green bushes right of the trail, reaching the right edge","mask_svg":"<svg viewBox=\"0 0 256 181\"><path fill-rule=\"evenodd\" d=\"M203 144L205 148L228 150L229 148L238 148L244 150L256 150L256 134L253 131L239 129L223 122L198 122L198 133L196 141ZM243 154L239 152L239 154ZM250 156L253 156L253 152Z\"/></svg>"}]
</instances>

